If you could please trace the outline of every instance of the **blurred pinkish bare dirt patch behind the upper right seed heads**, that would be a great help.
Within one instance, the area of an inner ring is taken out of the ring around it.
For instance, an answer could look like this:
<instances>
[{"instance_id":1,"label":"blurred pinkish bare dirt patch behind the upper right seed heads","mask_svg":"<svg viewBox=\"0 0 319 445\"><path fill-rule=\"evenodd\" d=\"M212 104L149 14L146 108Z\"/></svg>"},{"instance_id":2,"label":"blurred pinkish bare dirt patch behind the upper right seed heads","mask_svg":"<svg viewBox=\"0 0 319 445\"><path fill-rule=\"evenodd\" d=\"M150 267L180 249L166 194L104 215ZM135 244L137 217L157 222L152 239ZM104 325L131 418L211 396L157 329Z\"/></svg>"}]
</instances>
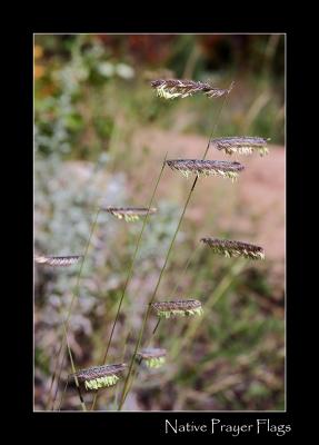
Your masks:
<instances>
[{"instance_id":1,"label":"blurred pinkish bare dirt patch behind the upper right seed heads","mask_svg":"<svg viewBox=\"0 0 319 445\"><path fill-rule=\"evenodd\" d=\"M166 151L168 158L201 158L207 139L197 135L144 129L133 140L134 155L148 147L147 161L139 164L141 181L149 181L151 164L160 166ZM142 155L141 155L142 156ZM229 157L210 148L208 159L237 160L245 165L237 182L222 178L201 179L187 210L186 218L197 225L199 236L219 236L231 231L238 239L265 247L271 264L272 279L282 289L285 278L285 147L269 146L269 155ZM151 159L151 161L150 161ZM158 170L158 169L157 169ZM158 172L153 171L153 180ZM144 179L144 180L143 180ZM213 182L212 182L213 181ZM213 185L212 185L213 184ZM183 202L191 179L167 169L158 195ZM142 195L149 196L149 190ZM209 230L209 233L207 231Z\"/></svg>"}]
</instances>

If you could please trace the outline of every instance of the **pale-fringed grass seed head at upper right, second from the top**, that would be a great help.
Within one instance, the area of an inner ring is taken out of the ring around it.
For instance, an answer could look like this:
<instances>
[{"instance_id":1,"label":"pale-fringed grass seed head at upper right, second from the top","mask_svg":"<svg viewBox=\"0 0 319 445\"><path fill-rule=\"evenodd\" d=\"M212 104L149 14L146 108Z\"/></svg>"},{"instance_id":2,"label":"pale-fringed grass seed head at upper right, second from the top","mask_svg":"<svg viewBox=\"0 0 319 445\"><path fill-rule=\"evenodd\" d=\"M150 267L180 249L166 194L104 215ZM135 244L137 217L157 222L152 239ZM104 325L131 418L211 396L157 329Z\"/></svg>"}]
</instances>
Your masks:
<instances>
[{"instance_id":1,"label":"pale-fringed grass seed head at upper right, second from the top","mask_svg":"<svg viewBox=\"0 0 319 445\"><path fill-rule=\"evenodd\" d=\"M218 150L223 150L227 155L251 155L253 151L258 151L260 156L265 156L269 152L267 148L268 140L270 139L251 136L233 136L212 139L210 144Z\"/></svg>"}]
</instances>

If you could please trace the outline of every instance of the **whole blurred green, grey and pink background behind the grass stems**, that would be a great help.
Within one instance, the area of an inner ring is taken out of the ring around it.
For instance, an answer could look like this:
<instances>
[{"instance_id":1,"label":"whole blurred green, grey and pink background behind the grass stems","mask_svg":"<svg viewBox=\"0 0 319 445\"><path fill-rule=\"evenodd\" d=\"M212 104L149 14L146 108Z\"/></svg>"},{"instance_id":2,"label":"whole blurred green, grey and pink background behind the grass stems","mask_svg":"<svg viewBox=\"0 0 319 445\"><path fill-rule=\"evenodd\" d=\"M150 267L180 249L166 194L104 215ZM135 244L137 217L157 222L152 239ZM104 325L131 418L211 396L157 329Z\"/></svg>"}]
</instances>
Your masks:
<instances>
[{"instance_id":1,"label":"whole blurred green, grey and pink background behind the grass stems","mask_svg":"<svg viewBox=\"0 0 319 445\"><path fill-rule=\"evenodd\" d=\"M149 82L165 77L236 85L218 116L218 99L157 98ZM158 296L173 298L177 288L199 298L205 318L161 324L153 344L168 349L168 364L141 372L128 411L285 408L285 37L34 37L36 253L81 254L98 206L148 205L166 151L201 157L217 119L215 136L271 138L270 155L241 158L249 169L240 185L207 179L197 187ZM166 171L110 363L130 357L189 187ZM140 229L100 215L70 324L77 368L101 360ZM182 275L200 236L262 243L269 255L241 267L198 249ZM34 268L36 409L46 409L76 275L77 267ZM69 373L66 360L58 400ZM114 409L117 390L102 393L99 409ZM62 409L79 409L71 386Z\"/></svg>"}]
</instances>

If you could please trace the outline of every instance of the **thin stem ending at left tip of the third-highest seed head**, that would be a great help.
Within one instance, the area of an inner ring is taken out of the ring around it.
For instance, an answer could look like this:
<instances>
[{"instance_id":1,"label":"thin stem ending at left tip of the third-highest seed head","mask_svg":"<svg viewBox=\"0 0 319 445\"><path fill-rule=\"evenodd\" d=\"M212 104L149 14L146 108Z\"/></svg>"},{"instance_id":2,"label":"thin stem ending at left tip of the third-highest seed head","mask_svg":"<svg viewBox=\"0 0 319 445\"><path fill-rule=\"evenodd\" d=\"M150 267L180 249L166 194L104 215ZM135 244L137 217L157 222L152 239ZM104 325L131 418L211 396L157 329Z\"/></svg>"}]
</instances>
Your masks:
<instances>
[{"instance_id":1,"label":"thin stem ending at left tip of the third-highest seed head","mask_svg":"<svg viewBox=\"0 0 319 445\"><path fill-rule=\"evenodd\" d=\"M136 245L136 249L134 249L133 257L132 257L132 260L131 260L131 264L130 264L130 268L129 268L129 271L128 271L128 276L127 276L127 279L126 279L126 283L124 283L123 291L122 291L122 295L121 295L121 298L120 298L120 301L119 301L119 306L118 306L118 310L117 310L117 314L116 314L116 318L114 318L114 322L113 322L113 325L112 325L112 328L111 328L111 334L110 334L110 337L109 337L109 340L108 340L108 344L107 344L107 349L106 349L106 353L103 355L102 365L104 365L106 362L107 362L109 348L110 348L110 345L111 345L111 342L112 342L112 338L113 338L113 333L114 333L114 329L116 329L116 326L117 326L117 323L118 323L118 319L119 319L119 316L120 316L120 310L121 310L121 307L122 307L124 295L126 295L129 281L131 279L131 276L132 276L132 271L133 271L137 254L138 254L138 250L139 250L139 247L140 247L140 243L141 243L141 239L142 239L142 235L143 235L144 228L147 226L147 222L149 220L149 216L150 216L149 210L150 210L150 208L152 206L152 202L153 202L157 189L158 189L158 185L160 182L160 179L162 177L162 174L163 174L163 170L165 170L165 167L166 167L167 156L168 156L168 152L165 156L165 159L163 159L163 162L162 162L162 167L161 167L160 174L158 176L158 179L157 179L157 182L156 182L156 186L154 186L154 189L152 191L152 196L151 196L151 199L150 199L150 202L149 202L149 206L148 206L148 211L147 211L147 215L146 215L146 217L143 219L143 225L142 225L142 228L141 228L141 231L140 231L137 245ZM92 403L92 406L91 406L91 411L94 409L94 406L96 406L96 403L97 403L97 398L98 398L98 393L94 395L93 403Z\"/></svg>"}]
</instances>

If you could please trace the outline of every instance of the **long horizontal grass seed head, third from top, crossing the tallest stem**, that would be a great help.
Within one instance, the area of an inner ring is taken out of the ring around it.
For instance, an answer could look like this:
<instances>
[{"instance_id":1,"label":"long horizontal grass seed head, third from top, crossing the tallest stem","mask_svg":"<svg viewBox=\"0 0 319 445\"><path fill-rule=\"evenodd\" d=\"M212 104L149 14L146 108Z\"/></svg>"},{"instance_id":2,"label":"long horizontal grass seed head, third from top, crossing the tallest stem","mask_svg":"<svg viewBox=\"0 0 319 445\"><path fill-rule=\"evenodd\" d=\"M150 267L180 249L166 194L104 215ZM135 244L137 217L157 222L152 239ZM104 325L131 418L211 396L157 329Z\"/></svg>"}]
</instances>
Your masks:
<instances>
[{"instance_id":1,"label":"long horizontal grass seed head, third from top, crossing the tallest stem","mask_svg":"<svg viewBox=\"0 0 319 445\"><path fill-rule=\"evenodd\" d=\"M170 159L167 165L172 169L180 171L188 178L191 174L198 177L221 176L232 181L237 179L238 172L243 170L239 162L229 162L226 160L200 160L200 159Z\"/></svg>"}]
</instances>

